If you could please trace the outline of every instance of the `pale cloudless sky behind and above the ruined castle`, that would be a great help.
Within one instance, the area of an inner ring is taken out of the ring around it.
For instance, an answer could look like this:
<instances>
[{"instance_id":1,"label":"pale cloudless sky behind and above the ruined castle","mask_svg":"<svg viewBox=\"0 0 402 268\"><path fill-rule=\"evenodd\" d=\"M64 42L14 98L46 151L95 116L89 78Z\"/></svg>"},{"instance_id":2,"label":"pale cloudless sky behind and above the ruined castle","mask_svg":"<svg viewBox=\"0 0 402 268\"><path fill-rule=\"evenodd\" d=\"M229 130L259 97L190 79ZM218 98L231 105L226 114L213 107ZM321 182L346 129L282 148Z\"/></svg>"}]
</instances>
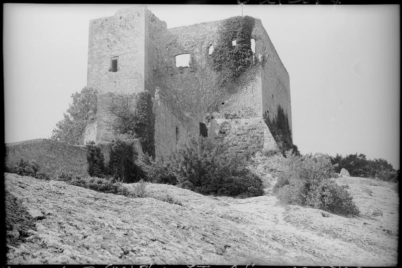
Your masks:
<instances>
[{"instance_id":1,"label":"pale cloudless sky behind and above the ruined castle","mask_svg":"<svg viewBox=\"0 0 402 268\"><path fill-rule=\"evenodd\" d=\"M4 5L5 142L49 138L86 85L89 20L127 5ZM168 28L241 15L234 6L148 5ZM290 77L303 154L363 153L399 168L399 6L244 6Z\"/></svg>"}]
</instances>

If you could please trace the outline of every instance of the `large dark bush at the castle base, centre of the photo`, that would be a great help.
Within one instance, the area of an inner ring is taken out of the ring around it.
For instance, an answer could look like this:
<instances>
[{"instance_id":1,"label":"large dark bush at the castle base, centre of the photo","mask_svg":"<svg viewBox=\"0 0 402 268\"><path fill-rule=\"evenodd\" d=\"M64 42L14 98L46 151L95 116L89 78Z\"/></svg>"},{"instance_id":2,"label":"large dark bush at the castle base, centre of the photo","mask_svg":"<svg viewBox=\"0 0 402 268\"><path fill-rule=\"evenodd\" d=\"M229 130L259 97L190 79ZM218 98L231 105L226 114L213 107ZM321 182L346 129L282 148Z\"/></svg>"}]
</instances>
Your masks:
<instances>
[{"instance_id":1,"label":"large dark bush at the castle base, centre of the photo","mask_svg":"<svg viewBox=\"0 0 402 268\"><path fill-rule=\"evenodd\" d=\"M168 183L205 194L260 196L261 179L243 160L229 153L217 140L190 138L165 158L150 161L148 180Z\"/></svg>"}]
</instances>

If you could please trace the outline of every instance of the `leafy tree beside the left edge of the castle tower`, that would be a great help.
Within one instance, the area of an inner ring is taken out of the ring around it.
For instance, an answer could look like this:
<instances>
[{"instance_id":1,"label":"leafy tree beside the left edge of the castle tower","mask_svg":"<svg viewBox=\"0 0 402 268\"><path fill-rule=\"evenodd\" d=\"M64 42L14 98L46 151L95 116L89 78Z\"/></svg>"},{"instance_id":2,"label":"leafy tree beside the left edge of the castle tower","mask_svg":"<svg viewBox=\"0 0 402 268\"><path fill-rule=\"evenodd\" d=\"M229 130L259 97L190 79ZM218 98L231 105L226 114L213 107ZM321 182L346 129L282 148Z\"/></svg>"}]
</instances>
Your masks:
<instances>
[{"instance_id":1,"label":"leafy tree beside the left edge of the castle tower","mask_svg":"<svg viewBox=\"0 0 402 268\"><path fill-rule=\"evenodd\" d=\"M71 98L72 103L63 113L64 118L53 129L51 139L80 145L86 125L96 115L97 91L84 87L72 94Z\"/></svg>"}]
</instances>

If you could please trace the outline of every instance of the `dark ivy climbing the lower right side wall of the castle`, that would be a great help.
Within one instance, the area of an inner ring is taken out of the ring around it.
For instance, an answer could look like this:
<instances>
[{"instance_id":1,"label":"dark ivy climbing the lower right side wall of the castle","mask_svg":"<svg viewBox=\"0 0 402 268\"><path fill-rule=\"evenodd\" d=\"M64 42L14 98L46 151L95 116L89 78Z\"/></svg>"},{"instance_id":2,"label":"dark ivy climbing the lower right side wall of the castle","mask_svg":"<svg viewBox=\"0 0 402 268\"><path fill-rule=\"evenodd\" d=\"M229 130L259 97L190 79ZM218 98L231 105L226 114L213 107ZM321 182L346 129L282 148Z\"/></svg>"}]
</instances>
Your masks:
<instances>
[{"instance_id":1,"label":"dark ivy climbing the lower right side wall of the castle","mask_svg":"<svg viewBox=\"0 0 402 268\"><path fill-rule=\"evenodd\" d=\"M268 128L283 156L286 155L285 153L288 150L291 150L293 154L300 155L297 146L295 146L292 141L289 118L280 105L278 105L277 114L272 120L269 117L268 111L265 111L264 121L268 125Z\"/></svg>"}]
</instances>

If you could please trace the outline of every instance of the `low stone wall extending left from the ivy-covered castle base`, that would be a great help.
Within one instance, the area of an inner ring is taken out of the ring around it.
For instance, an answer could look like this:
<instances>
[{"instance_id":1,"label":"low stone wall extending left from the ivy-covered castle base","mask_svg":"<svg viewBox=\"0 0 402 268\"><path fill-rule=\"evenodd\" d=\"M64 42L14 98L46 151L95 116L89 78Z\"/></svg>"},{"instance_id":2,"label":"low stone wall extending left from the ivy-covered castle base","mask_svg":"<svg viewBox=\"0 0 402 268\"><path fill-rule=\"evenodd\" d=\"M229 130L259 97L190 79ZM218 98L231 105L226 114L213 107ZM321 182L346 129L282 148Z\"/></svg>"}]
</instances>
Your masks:
<instances>
[{"instance_id":1,"label":"low stone wall extending left from the ivy-covered castle base","mask_svg":"<svg viewBox=\"0 0 402 268\"><path fill-rule=\"evenodd\" d=\"M59 169L72 171L82 176L88 175L86 147L74 146L65 142L37 139L6 144L6 165L16 165L20 159L35 159L40 171L56 174Z\"/></svg>"}]
</instances>

